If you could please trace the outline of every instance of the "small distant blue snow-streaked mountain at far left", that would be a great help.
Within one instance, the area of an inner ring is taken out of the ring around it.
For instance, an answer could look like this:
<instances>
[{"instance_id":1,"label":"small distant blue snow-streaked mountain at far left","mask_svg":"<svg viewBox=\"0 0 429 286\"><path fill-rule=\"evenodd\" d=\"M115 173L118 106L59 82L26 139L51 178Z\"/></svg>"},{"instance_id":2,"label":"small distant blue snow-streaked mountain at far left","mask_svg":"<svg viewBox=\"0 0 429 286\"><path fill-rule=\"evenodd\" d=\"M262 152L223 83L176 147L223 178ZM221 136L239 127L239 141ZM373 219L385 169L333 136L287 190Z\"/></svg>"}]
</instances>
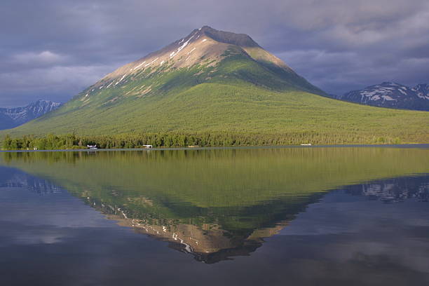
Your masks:
<instances>
[{"instance_id":1,"label":"small distant blue snow-streaked mountain at far left","mask_svg":"<svg viewBox=\"0 0 429 286\"><path fill-rule=\"evenodd\" d=\"M60 103L37 100L26 107L0 109L0 130L14 128L60 107Z\"/></svg>"}]
</instances>

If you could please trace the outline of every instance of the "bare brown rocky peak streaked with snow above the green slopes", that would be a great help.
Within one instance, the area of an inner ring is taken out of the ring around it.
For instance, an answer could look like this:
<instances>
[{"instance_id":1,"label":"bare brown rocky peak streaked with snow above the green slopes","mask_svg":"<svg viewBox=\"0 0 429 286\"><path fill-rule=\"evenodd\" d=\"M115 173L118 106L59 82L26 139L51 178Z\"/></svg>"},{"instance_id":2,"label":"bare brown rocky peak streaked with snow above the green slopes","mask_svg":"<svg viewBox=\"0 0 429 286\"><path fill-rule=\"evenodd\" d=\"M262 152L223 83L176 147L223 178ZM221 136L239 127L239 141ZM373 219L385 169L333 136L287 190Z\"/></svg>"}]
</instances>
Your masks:
<instances>
[{"instance_id":1,"label":"bare brown rocky peak streaked with snow above the green slopes","mask_svg":"<svg viewBox=\"0 0 429 286\"><path fill-rule=\"evenodd\" d=\"M231 56L239 56L242 57L242 60L246 58L246 60L257 62L261 67L271 70L270 72L274 72L278 76L282 74L280 77L282 77L282 81L286 82L286 85L298 86L300 90L304 88L306 91L322 94L321 90L298 76L285 62L261 48L247 34L236 34L203 26L200 29L193 29L191 34L170 43L161 50L149 53L149 55L107 74L102 80L85 90L83 95L88 100L91 93L96 90L116 88L126 81L135 79L137 74L150 76L157 72L189 69L198 65L215 69L214 67L219 62ZM211 78L212 75L205 76L207 80Z\"/></svg>"}]
</instances>

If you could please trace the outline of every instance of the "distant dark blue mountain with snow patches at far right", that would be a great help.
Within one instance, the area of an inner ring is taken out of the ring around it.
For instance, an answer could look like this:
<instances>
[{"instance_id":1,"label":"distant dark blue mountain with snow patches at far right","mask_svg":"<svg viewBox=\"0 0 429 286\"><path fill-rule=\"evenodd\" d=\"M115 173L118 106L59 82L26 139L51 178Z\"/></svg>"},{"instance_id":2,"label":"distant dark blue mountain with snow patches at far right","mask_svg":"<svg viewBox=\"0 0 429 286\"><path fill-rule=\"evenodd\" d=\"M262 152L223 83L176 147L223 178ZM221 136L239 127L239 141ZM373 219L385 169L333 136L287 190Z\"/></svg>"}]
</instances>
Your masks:
<instances>
[{"instance_id":1,"label":"distant dark blue mountain with snow patches at far right","mask_svg":"<svg viewBox=\"0 0 429 286\"><path fill-rule=\"evenodd\" d=\"M350 91L336 98L376 107L429 111L429 85L427 84L410 88L400 83L383 82L363 90Z\"/></svg>"}]
</instances>

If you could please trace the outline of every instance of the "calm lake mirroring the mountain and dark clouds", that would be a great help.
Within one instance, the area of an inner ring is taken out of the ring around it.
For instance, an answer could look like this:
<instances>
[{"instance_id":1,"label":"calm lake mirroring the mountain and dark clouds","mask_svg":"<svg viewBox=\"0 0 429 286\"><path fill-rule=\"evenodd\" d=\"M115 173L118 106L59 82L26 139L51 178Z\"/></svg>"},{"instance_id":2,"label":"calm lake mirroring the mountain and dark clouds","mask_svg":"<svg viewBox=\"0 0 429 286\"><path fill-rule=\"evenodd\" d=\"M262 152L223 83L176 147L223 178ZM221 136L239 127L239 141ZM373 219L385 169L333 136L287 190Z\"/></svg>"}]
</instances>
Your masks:
<instances>
[{"instance_id":1,"label":"calm lake mirroring the mountain and dark clouds","mask_svg":"<svg viewBox=\"0 0 429 286\"><path fill-rule=\"evenodd\" d=\"M428 148L0 153L0 285L429 285Z\"/></svg>"}]
</instances>

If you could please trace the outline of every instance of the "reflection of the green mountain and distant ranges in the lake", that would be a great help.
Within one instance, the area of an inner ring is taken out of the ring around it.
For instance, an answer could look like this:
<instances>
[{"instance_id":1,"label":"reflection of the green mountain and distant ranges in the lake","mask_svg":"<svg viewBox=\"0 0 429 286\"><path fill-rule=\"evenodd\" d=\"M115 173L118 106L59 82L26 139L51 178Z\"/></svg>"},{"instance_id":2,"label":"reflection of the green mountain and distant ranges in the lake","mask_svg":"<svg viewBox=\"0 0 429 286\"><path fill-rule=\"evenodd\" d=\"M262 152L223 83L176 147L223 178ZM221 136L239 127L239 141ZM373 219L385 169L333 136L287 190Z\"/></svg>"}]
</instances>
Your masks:
<instances>
[{"instance_id":1,"label":"reflection of the green mountain and distant ranges in the lake","mask_svg":"<svg viewBox=\"0 0 429 286\"><path fill-rule=\"evenodd\" d=\"M27 186L36 193L55 193L61 186L121 226L212 264L254 252L265 238L335 189L383 203L427 201L426 175L397 177L427 172L424 152L350 148L4 154L4 165L37 176L20 173L4 185ZM386 177L393 178L381 179Z\"/></svg>"}]
</instances>

